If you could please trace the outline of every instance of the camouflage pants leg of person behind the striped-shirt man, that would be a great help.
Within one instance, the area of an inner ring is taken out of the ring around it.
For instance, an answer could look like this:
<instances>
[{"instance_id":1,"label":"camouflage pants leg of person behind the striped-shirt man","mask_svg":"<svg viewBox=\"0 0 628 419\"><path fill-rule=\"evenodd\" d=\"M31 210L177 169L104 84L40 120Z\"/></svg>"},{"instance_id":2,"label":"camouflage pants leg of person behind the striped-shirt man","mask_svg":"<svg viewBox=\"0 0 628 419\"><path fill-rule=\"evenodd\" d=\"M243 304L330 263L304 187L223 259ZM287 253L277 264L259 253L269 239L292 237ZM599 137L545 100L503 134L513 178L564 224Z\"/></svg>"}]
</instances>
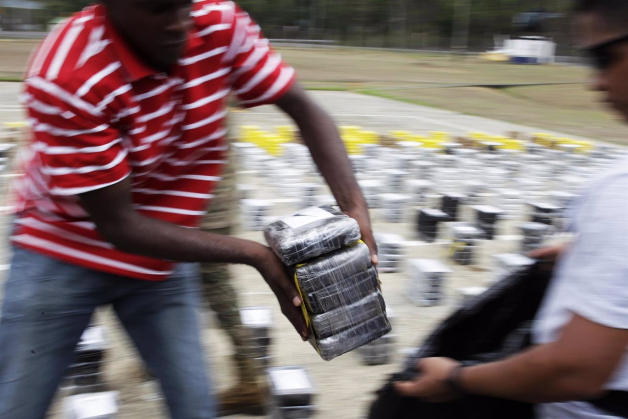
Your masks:
<instances>
[{"instance_id":1,"label":"camouflage pants leg of person behind the striped-shirt man","mask_svg":"<svg viewBox=\"0 0 628 419\"><path fill-rule=\"evenodd\" d=\"M215 234L230 233L229 228L208 230ZM259 384L261 367L251 354L250 337L242 326L237 293L231 283L229 264L202 263L200 267L202 293L212 311L216 313L220 328L229 335L234 345L234 362L240 383Z\"/></svg>"}]
</instances>

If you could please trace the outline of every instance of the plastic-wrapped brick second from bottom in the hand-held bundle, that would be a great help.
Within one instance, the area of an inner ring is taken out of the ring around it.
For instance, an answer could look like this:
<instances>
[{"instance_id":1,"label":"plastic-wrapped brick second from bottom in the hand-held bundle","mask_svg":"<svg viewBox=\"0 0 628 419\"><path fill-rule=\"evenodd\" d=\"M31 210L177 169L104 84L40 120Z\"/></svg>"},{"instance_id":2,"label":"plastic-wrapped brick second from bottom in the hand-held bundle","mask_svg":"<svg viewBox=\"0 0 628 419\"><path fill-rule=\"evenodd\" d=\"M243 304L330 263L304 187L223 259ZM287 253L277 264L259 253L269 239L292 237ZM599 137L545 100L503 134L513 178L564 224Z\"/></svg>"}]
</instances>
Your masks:
<instances>
[{"instance_id":1,"label":"plastic-wrapped brick second from bottom in the hand-held bundle","mask_svg":"<svg viewBox=\"0 0 628 419\"><path fill-rule=\"evenodd\" d=\"M318 339L324 339L385 312L384 297L379 291L375 291L355 303L312 316L310 322Z\"/></svg>"}]
</instances>

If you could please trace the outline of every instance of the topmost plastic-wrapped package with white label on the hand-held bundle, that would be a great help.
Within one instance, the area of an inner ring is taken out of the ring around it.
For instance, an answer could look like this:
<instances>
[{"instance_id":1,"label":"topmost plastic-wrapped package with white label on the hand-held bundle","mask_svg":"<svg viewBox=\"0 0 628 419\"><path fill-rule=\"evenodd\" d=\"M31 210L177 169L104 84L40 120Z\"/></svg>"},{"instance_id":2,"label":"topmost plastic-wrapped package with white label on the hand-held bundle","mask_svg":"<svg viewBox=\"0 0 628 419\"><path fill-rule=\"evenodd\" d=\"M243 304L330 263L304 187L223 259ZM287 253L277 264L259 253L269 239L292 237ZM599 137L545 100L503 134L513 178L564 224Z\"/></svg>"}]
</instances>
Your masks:
<instances>
[{"instance_id":1,"label":"topmost plastic-wrapped package with white label on the hand-held bundle","mask_svg":"<svg viewBox=\"0 0 628 419\"><path fill-rule=\"evenodd\" d=\"M323 205L281 217L266 226L264 236L279 259L290 266L358 241L360 227L354 219Z\"/></svg>"}]
</instances>

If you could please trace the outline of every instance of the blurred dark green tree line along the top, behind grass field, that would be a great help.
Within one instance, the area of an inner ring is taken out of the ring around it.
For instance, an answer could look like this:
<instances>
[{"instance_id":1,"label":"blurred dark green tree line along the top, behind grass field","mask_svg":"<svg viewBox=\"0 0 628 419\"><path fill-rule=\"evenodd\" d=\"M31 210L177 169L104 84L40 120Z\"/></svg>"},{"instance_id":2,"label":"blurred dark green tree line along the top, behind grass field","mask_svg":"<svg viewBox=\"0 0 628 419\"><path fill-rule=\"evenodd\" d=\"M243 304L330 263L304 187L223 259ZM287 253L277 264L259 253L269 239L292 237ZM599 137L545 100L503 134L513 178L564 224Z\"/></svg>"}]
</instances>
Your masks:
<instances>
[{"instance_id":1,"label":"blurred dark green tree line along the top, behind grass field","mask_svg":"<svg viewBox=\"0 0 628 419\"><path fill-rule=\"evenodd\" d=\"M89 0L48 0L67 14ZM269 38L327 40L352 46L485 50L494 36L525 34L516 14L555 13L539 33L570 49L573 0L236 0Z\"/></svg>"}]
</instances>

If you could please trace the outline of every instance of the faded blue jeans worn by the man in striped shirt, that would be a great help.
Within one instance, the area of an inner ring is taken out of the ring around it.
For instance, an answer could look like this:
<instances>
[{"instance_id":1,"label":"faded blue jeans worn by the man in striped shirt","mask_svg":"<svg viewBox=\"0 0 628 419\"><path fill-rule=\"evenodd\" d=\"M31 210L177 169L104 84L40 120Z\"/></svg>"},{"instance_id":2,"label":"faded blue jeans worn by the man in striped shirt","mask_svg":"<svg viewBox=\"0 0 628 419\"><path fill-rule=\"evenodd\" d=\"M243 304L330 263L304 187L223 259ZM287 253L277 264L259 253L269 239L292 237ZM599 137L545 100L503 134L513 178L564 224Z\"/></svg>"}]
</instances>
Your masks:
<instances>
[{"instance_id":1,"label":"faded blue jeans worn by the man in striped shirt","mask_svg":"<svg viewBox=\"0 0 628 419\"><path fill-rule=\"evenodd\" d=\"M193 264L141 281L14 248L0 320L0 419L44 418L92 313L106 304L160 381L171 417L214 418L197 283Z\"/></svg>"}]
</instances>

